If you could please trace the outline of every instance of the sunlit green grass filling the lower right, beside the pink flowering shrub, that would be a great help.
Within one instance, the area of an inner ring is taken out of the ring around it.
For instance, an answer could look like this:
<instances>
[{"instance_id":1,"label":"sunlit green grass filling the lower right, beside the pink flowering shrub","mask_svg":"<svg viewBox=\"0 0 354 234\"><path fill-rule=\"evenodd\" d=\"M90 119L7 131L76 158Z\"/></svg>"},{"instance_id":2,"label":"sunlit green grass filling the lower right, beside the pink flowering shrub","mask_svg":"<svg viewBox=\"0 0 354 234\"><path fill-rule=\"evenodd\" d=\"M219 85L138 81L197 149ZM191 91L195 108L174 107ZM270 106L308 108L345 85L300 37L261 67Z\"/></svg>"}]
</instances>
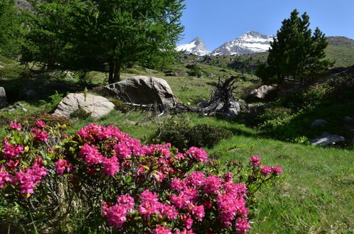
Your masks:
<instances>
[{"instance_id":1,"label":"sunlit green grass filling the lower right, beside the pink flowering shrub","mask_svg":"<svg viewBox=\"0 0 354 234\"><path fill-rule=\"evenodd\" d=\"M235 136L209 152L242 161L260 155L266 165L282 166L282 182L258 194L252 233L353 230L353 151Z\"/></svg>"}]
</instances>

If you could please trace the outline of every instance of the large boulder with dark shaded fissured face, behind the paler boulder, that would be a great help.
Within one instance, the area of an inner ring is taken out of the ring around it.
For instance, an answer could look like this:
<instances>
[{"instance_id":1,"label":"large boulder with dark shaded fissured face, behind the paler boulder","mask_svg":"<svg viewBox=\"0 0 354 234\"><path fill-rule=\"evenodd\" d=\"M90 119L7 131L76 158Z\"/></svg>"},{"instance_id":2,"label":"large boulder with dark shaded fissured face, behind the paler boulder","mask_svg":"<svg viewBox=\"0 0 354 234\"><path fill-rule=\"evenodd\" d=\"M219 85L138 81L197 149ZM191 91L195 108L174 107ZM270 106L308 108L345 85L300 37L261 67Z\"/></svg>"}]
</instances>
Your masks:
<instances>
[{"instance_id":1,"label":"large boulder with dark shaded fissured face, behind the paler boulder","mask_svg":"<svg viewBox=\"0 0 354 234\"><path fill-rule=\"evenodd\" d=\"M133 104L175 106L175 104L180 103L165 79L156 77L131 77L121 82L109 84L106 88L114 91L118 99Z\"/></svg>"}]
</instances>

